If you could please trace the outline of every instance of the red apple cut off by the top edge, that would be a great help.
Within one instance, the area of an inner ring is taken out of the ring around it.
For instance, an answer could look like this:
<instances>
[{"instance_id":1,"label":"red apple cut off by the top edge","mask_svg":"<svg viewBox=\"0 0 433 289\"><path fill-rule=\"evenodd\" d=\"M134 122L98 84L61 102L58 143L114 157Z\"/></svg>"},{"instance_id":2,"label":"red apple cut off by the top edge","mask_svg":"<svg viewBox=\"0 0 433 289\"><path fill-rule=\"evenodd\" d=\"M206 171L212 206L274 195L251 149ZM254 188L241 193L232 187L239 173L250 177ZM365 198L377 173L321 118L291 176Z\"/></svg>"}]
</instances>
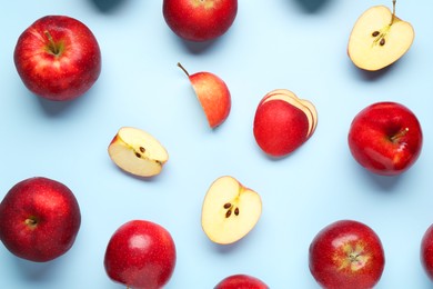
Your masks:
<instances>
[{"instance_id":1,"label":"red apple cut off by the top edge","mask_svg":"<svg viewBox=\"0 0 433 289\"><path fill-rule=\"evenodd\" d=\"M162 13L180 38L208 41L222 36L232 26L238 0L163 0Z\"/></svg>"}]
</instances>

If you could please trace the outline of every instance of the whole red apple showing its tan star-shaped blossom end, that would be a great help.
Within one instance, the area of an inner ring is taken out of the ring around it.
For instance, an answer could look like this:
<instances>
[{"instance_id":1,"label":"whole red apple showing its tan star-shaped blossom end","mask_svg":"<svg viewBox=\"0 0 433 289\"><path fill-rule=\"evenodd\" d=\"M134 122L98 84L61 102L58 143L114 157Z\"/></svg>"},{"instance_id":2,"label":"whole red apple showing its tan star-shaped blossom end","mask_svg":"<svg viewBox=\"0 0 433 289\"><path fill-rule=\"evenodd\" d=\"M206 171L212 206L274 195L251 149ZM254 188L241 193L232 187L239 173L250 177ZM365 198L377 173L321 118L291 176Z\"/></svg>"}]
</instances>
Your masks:
<instances>
[{"instance_id":1,"label":"whole red apple showing its tan star-shaped blossom end","mask_svg":"<svg viewBox=\"0 0 433 289\"><path fill-rule=\"evenodd\" d=\"M323 288L367 289L381 279L385 257L381 240L370 227L359 221L340 220L314 237L309 266Z\"/></svg>"}]
</instances>

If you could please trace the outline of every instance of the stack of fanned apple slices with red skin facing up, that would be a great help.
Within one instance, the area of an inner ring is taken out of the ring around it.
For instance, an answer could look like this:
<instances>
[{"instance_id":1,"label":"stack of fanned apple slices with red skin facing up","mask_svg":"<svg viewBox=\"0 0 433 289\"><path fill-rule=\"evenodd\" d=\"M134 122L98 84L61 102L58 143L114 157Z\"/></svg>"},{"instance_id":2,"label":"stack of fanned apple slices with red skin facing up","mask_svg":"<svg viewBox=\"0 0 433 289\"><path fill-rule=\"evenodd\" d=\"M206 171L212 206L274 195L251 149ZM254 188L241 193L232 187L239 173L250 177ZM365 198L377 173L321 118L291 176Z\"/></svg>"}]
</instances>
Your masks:
<instances>
[{"instance_id":1,"label":"stack of fanned apple slices with red skin facing up","mask_svg":"<svg viewBox=\"0 0 433 289\"><path fill-rule=\"evenodd\" d=\"M272 90L260 101L254 117L254 138L272 157L289 155L314 133L318 112L312 102L286 89Z\"/></svg>"}]
</instances>

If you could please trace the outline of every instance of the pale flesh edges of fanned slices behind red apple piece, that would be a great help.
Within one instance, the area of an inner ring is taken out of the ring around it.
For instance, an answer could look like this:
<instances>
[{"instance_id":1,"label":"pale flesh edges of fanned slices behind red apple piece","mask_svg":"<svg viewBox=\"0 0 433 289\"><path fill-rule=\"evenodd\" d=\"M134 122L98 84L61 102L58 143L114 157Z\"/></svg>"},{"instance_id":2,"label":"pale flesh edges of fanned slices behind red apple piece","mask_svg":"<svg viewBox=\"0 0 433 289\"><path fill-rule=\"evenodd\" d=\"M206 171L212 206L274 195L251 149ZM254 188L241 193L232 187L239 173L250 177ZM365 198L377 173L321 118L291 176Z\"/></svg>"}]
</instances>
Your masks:
<instances>
[{"instance_id":1,"label":"pale flesh edges of fanned slices behind red apple piece","mask_svg":"<svg viewBox=\"0 0 433 289\"><path fill-rule=\"evenodd\" d=\"M305 113L305 117L309 120L309 131L306 138L310 138L318 126L318 111L314 104L309 100L300 99L295 93L288 89L275 89L268 92L261 103L275 99L284 100Z\"/></svg>"}]
</instances>

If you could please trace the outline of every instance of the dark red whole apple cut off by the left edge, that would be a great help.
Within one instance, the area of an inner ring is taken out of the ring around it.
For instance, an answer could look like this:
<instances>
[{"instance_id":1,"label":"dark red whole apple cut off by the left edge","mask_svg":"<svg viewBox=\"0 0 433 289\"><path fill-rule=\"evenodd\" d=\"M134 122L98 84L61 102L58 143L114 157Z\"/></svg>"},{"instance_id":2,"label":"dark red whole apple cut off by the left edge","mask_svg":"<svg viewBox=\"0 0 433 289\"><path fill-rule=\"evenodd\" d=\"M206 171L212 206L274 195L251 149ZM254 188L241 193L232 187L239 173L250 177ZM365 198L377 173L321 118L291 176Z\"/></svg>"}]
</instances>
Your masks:
<instances>
[{"instance_id":1,"label":"dark red whole apple cut off by the left edge","mask_svg":"<svg viewBox=\"0 0 433 289\"><path fill-rule=\"evenodd\" d=\"M66 253L81 225L72 191L42 177L13 186L0 203L0 240L13 255L46 262Z\"/></svg>"}]
</instances>

